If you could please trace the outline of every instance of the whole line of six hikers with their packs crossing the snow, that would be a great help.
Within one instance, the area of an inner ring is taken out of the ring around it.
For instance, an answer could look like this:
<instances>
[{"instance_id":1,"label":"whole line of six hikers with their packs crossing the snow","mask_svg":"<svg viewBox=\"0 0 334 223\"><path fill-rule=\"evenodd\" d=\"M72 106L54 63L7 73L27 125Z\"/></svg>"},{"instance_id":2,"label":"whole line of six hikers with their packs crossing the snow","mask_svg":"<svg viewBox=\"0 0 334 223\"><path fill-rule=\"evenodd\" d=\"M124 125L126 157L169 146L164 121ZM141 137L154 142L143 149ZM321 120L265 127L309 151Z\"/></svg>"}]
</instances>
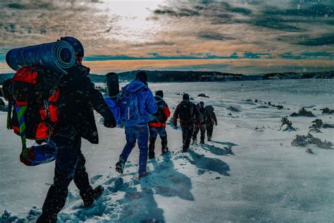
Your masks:
<instances>
[{"instance_id":1,"label":"whole line of six hikers with their packs crossing the snow","mask_svg":"<svg viewBox=\"0 0 334 223\"><path fill-rule=\"evenodd\" d=\"M80 41L74 37L61 37L60 42L70 44L73 47L70 50L75 54L73 64L66 68L66 75L40 64L30 64L18 66L14 77L3 85L3 95L8 100L7 128L12 128L21 137L21 162L28 166L56 162L54 183L37 222L56 222L72 180L85 206L91 205L103 193L102 186L92 188L90 185L81 151L82 138L93 144L99 143L93 110L104 117L106 128L124 126L126 143L116 163L116 171L120 174L123 174L136 142L140 150L139 177L147 175L147 159L156 156L158 135L161 154L169 152L166 121L171 111L163 100L163 90L157 90L154 96L149 89L147 73L140 71L135 80L120 91L116 79L115 87L109 89L109 97L104 98L89 79L89 68L82 65L84 48ZM65 53L70 55L66 51L61 55ZM69 61L66 55L63 60ZM8 58L10 64L10 56ZM115 73L110 75L115 76ZM197 143L199 132L200 143L204 143L205 135L210 141L214 125L217 125L214 108L204 106L204 102L194 104L186 93L175 108L173 126L178 126L178 120L182 130L182 152L187 152L191 140L192 144ZM26 139L36 140L38 145L27 147Z\"/></svg>"}]
</instances>

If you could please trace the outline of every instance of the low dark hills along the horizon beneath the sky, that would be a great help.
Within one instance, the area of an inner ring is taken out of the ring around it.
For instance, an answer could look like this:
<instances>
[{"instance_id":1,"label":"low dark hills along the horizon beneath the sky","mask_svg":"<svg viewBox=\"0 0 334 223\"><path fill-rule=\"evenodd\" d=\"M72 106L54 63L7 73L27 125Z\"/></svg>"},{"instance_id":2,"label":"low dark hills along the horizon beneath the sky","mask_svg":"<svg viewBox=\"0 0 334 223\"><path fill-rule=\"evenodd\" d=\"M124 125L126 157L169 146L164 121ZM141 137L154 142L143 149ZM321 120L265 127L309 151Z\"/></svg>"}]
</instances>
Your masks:
<instances>
[{"instance_id":1,"label":"low dark hills along the horizon beneath the sky","mask_svg":"<svg viewBox=\"0 0 334 223\"><path fill-rule=\"evenodd\" d=\"M139 71L118 73L120 82L135 79ZM245 76L240 73L222 73L217 71L145 71L149 82L211 82L211 81L237 81L237 80L271 80L271 79L305 79L305 78L334 78L334 71L308 72L308 73L267 73L264 76ZM0 73L0 85L4 80L12 78L13 73ZM92 82L106 82L105 75L89 74Z\"/></svg>"}]
</instances>

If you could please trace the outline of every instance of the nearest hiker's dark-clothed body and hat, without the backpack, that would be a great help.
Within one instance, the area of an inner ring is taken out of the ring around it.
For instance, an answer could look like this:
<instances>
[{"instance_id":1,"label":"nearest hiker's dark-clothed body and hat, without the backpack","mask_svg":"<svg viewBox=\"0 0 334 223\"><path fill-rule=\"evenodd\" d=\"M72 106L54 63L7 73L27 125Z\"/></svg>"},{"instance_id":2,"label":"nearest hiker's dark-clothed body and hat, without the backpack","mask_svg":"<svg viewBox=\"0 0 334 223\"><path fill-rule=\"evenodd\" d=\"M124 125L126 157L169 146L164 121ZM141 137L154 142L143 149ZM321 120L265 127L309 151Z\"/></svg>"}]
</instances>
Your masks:
<instances>
[{"instance_id":1,"label":"nearest hiker's dark-clothed body and hat, without the backpack","mask_svg":"<svg viewBox=\"0 0 334 223\"><path fill-rule=\"evenodd\" d=\"M116 121L104 98L88 77L89 68L82 66L82 44L73 37L62 37L75 49L75 65L60 79L58 123L48 143L56 149L54 184L49 188L37 222L56 222L68 195L68 185L74 180L85 206L91 205L104 189L92 188L81 152L81 138L99 143L93 110L104 117L104 126L113 128Z\"/></svg>"}]
</instances>

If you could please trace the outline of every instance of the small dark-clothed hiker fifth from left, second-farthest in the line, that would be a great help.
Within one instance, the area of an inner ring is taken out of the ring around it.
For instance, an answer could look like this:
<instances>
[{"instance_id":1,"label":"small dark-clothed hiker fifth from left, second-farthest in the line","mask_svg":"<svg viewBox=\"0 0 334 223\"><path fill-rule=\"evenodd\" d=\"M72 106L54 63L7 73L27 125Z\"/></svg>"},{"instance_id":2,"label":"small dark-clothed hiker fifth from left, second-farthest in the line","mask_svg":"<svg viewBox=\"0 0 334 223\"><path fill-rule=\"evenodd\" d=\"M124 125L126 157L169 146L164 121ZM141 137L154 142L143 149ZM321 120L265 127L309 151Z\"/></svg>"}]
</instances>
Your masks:
<instances>
[{"instance_id":1,"label":"small dark-clothed hiker fifth from left, second-farthest in the line","mask_svg":"<svg viewBox=\"0 0 334 223\"><path fill-rule=\"evenodd\" d=\"M199 123L194 123L194 133L192 134L192 144L197 143L197 133L201 131L201 144L204 144L205 131L206 131L206 121L209 117L209 111L204 108L204 102L199 102L197 104L199 109L200 120Z\"/></svg>"}]
</instances>

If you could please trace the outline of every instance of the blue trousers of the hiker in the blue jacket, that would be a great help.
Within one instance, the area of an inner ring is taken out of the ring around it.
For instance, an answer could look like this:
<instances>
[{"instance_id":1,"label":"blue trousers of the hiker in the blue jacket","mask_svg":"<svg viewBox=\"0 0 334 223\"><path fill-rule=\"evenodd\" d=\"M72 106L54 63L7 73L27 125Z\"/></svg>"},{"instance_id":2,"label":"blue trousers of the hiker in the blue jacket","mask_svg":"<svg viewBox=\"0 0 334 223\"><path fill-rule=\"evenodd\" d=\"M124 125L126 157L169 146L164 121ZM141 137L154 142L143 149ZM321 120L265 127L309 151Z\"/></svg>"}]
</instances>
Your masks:
<instances>
[{"instance_id":1,"label":"blue trousers of the hiker in the blue jacket","mask_svg":"<svg viewBox=\"0 0 334 223\"><path fill-rule=\"evenodd\" d=\"M147 166L147 152L149 150L149 129L148 126L125 126L125 139L126 144L123 148L122 153L120 154L120 159L123 162L128 160L130 152L136 145L136 141L138 142L138 147L140 149L140 168L139 174L144 174L146 172Z\"/></svg>"}]
</instances>

